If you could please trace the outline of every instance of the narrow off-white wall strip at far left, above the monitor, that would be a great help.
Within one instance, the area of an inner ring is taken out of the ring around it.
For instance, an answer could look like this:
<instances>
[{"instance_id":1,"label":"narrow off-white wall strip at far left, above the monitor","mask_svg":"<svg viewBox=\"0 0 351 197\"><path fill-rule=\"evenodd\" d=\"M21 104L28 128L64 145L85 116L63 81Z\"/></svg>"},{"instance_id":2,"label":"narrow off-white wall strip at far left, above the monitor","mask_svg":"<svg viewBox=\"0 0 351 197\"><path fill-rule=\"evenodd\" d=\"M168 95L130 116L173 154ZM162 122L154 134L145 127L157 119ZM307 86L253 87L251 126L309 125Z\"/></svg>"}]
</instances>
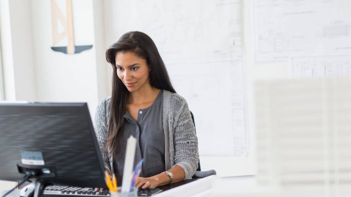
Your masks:
<instances>
[{"instance_id":1,"label":"narrow off-white wall strip at far left, above the monitor","mask_svg":"<svg viewBox=\"0 0 351 197\"><path fill-rule=\"evenodd\" d=\"M1 1L1 35L7 100L36 100L30 1Z\"/></svg>"}]
</instances>

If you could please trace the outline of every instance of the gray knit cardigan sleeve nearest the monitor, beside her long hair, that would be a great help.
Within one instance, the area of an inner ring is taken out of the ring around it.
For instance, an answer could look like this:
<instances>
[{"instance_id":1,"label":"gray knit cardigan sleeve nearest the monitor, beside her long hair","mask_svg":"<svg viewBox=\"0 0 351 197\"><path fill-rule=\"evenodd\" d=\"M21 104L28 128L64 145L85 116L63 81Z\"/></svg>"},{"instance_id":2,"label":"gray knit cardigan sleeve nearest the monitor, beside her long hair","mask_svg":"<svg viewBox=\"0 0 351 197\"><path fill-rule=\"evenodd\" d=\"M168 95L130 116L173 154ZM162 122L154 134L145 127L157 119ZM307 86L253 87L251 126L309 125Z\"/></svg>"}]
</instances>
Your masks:
<instances>
[{"instance_id":1,"label":"gray knit cardigan sleeve nearest the monitor, beside her long hair","mask_svg":"<svg viewBox=\"0 0 351 197\"><path fill-rule=\"evenodd\" d=\"M100 146L100 151L102 155L102 159L104 161L105 168L111 172L111 166L109 161L108 152L105 148L106 146L106 138L107 138L107 117L106 117L106 98L101 100L98 104L95 112L95 133L97 137L97 141Z\"/></svg>"}]
</instances>

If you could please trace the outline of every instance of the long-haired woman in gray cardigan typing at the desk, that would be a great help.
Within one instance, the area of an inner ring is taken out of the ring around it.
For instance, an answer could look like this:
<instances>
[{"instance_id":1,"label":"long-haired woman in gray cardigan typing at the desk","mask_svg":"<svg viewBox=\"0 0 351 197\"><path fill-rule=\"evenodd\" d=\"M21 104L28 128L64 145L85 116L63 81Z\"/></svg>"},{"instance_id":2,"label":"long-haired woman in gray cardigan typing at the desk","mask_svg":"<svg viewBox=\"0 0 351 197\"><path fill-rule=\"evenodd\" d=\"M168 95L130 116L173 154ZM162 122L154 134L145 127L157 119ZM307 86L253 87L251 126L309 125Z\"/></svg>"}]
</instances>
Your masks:
<instances>
[{"instance_id":1,"label":"long-haired woman in gray cardigan typing at the desk","mask_svg":"<svg viewBox=\"0 0 351 197\"><path fill-rule=\"evenodd\" d=\"M198 166L198 140L186 100L173 89L156 45L130 31L106 50L112 94L97 106L95 130L105 167L123 175L126 139L137 139L134 165L144 159L136 187L188 179Z\"/></svg>"}]
</instances>

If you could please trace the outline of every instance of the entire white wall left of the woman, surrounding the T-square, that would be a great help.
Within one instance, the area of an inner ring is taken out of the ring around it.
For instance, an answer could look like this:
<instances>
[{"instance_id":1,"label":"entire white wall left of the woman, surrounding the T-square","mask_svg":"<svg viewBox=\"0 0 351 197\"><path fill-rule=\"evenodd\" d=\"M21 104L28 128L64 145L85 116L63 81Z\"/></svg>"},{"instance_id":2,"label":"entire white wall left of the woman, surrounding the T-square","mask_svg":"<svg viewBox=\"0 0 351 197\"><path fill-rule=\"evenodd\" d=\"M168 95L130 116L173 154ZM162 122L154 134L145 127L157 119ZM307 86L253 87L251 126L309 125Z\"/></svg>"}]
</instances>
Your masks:
<instances>
[{"instance_id":1,"label":"entire white wall left of the woman, surrounding the T-square","mask_svg":"<svg viewBox=\"0 0 351 197\"><path fill-rule=\"evenodd\" d=\"M93 47L71 55L50 48L50 0L0 3L6 100L87 102L93 117L98 102L108 95L110 84L110 77L106 76L110 67L104 57L107 46L103 1L74 1L74 11L84 9L80 13L86 14L83 29L76 32L88 34L88 44ZM14 183L0 181L0 190L13 186Z\"/></svg>"}]
</instances>

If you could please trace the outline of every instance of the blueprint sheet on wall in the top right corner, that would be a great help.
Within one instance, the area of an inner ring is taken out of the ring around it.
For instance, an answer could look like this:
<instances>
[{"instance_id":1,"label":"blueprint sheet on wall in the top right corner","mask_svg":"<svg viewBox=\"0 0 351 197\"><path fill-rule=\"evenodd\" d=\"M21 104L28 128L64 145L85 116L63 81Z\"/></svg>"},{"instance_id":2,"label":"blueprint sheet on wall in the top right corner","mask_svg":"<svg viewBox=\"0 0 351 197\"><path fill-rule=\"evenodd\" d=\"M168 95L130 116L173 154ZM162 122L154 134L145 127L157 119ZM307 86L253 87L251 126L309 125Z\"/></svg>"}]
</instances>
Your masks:
<instances>
[{"instance_id":1,"label":"blueprint sheet on wall in the top right corner","mask_svg":"<svg viewBox=\"0 0 351 197\"><path fill-rule=\"evenodd\" d=\"M351 54L350 0L254 0L256 62Z\"/></svg>"}]
</instances>

